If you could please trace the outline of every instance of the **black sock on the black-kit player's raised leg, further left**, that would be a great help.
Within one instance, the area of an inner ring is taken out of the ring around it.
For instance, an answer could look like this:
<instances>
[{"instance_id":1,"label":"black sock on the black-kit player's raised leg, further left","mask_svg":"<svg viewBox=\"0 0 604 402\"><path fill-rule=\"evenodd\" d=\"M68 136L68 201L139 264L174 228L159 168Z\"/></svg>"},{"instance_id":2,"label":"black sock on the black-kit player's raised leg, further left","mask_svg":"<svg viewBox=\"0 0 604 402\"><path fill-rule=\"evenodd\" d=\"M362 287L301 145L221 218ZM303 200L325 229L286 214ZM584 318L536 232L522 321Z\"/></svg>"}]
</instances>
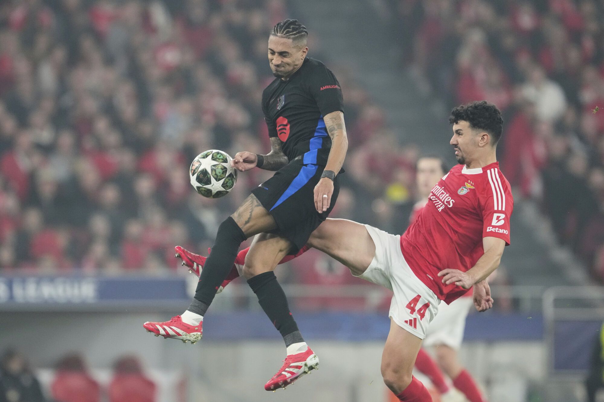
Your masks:
<instances>
[{"instance_id":1,"label":"black sock on the black-kit player's raised leg, further left","mask_svg":"<svg viewBox=\"0 0 604 402\"><path fill-rule=\"evenodd\" d=\"M199 276L199 283L195 290L197 302L191 303L189 311L201 316L205 315L216 296L216 291L233 268L239 246L246 239L245 233L232 217L220 223L216 241Z\"/></svg>"}]
</instances>

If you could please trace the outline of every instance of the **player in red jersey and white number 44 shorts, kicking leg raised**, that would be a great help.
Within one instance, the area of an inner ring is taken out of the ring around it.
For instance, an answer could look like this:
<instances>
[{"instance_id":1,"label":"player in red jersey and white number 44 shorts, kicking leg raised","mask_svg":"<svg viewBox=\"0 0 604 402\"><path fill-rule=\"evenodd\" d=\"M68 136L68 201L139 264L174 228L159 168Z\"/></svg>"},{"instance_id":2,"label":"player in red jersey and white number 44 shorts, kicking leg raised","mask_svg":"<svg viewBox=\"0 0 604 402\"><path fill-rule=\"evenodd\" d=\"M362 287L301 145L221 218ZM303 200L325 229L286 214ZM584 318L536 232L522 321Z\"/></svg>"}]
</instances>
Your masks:
<instances>
[{"instance_id":1,"label":"player in red jersey and white number 44 shorts, kicking leg raised","mask_svg":"<svg viewBox=\"0 0 604 402\"><path fill-rule=\"evenodd\" d=\"M402 236L328 219L307 243L353 275L393 290L381 371L388 388L406 402L432 400L412 372L440 301L450 304L474 286L477 310L491 308L485 279L510 244L512 193L495 156L503 131L501 112L486 101L472 102L455 107L449 122L449 143L459 165L434 185L425 208ZM244 263L243 271L249 269ZM283 375L281 386L288 384Z\"/></svg>"}]
</instances>

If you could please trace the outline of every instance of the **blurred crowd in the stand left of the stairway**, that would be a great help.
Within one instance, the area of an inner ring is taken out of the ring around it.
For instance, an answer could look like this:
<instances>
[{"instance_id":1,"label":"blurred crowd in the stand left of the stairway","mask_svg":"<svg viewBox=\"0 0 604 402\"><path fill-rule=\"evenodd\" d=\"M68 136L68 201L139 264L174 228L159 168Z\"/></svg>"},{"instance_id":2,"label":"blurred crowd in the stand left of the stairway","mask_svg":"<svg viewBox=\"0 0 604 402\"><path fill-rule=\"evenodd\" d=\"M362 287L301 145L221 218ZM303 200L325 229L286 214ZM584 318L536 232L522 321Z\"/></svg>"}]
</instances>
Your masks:
<instances>
[{"instance_id":1,"label":"blurred crowd in the stand left of the stairway","mask_svg":"<svg viewBox=\"0 0 604 402\"><path fill-rule=\"evenodd\" d=\"M165 272L176 244L203 252L269 177L250 171L230 196L211 200L187 172L207 149L268 151L266 40L288 15L284 0L13 0L0 11L3 269ZM437 7L430 18L441 32ZM427 48L438 46L425 35ZM318 38L310 40L310 56L320 57ZM347 69L333 69L355 155L338 216L387 225L409 196L413 147L396 144L384 111ZM509 92L503 75L485 85ZM367 202L355 203L359 196ZM376 199L384 200L377 217Z\"/></svg>"}]
</instances>

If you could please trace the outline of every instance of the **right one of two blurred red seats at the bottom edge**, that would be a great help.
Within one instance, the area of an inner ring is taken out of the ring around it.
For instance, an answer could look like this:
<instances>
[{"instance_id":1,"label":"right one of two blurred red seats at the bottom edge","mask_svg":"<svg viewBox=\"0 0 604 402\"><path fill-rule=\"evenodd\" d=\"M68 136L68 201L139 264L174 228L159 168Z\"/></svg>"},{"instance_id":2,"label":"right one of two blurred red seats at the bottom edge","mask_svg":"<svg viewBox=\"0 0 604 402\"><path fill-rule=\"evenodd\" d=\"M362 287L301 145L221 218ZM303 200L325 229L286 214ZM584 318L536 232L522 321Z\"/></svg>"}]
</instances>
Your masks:
<instances>
[{"instance_id":1,"label":"right one of two blurred red seats at the bottom edge","mask_svg":"<svg viewBox=\"0 0 604 402\"><path fill-rule=\"evenodd\" d=\"M156 386L143 373L135 356L120 357L114 363L114 377L109 384L110 402L154 402Z\"/></svg>"}]
</instances>

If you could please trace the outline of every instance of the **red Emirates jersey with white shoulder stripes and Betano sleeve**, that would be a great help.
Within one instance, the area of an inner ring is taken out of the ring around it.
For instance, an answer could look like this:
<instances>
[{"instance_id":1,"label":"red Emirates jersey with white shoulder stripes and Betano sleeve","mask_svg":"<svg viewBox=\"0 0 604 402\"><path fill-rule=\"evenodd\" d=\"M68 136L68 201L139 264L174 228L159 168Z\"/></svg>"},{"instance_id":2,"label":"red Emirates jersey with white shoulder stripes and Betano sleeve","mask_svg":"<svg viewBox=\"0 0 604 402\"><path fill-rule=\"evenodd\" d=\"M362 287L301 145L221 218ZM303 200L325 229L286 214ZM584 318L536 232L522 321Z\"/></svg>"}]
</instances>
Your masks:
<instances>
[{"instance_id":1,"label":"red Emirates jersey with white shoulder stripes and Betano sleeve","mask_svg":"<svg viewBox=\"0 0 604 402\"><path fill-rule=\"evenodd\" d=\"M509 245L512 209L512 191L499 162L475 169L457 165L432 188L428 203L400 237L403 256L449 304L467 290L443 284L438 273L471 269L484 254L483 237L502 238Z\"/></svg>"}]
</instances>

